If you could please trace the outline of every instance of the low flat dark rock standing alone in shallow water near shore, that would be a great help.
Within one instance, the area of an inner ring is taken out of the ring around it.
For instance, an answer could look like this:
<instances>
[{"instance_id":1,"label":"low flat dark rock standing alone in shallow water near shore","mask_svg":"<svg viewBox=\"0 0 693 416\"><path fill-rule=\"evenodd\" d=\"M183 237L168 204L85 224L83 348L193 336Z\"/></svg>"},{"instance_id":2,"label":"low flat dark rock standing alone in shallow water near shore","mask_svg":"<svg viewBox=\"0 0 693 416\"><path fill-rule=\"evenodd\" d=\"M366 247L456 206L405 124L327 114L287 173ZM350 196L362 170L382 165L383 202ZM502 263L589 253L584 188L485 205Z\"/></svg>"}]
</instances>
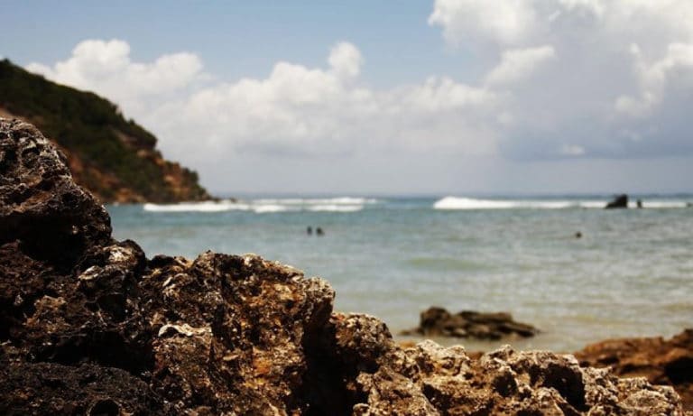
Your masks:
<instances>
[{"instance_id":1,"label":"low flat dark rock standing alone in shallow water near shore","mask_svg":"<svg viewBox=\"0 0 693 416\"><path fill-rule=\"evenodd\" d=\"M402 335L501 339L512 336L533 337L538 332L531 325L514 321L513 316L506 312L463 310L453 315L448 310L434 306L421 312L418 328L405 330Z\"/></svg>"}]
</instances>

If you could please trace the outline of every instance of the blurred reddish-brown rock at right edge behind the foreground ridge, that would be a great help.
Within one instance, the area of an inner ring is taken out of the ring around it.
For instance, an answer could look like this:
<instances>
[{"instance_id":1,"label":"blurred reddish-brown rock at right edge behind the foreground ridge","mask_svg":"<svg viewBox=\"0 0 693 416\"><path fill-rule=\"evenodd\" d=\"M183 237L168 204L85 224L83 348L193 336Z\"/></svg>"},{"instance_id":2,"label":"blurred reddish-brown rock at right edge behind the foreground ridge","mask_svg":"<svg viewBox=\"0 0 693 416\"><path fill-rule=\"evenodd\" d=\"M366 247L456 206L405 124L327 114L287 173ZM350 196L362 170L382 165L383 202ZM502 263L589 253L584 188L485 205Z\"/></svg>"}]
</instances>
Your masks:
<instances>
[{"instance_id":1,"label":"blurred reddish-brown rock at right edge behind the foreground ridge","mask_svg":"<svg viewBox=\"0 0 693 416\"><path fill-rule=\"evenodd\" d=\"M624 377L647 377L651 384L671 385L684 408L693 411L693 329L664 339L609 339L575 353L582 365L611 367Z\"/></svg>"}]
</instances>

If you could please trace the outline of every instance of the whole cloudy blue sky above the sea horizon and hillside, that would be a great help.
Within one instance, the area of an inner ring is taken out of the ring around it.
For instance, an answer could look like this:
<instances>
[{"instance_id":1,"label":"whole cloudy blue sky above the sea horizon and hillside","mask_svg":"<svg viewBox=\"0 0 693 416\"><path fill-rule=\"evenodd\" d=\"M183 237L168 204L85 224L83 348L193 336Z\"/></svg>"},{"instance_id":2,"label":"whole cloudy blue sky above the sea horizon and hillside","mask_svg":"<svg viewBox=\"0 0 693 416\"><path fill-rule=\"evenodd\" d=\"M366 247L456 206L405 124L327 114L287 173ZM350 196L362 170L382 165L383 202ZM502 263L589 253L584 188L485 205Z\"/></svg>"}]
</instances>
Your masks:
<instances>
[{"instance_id":1,"label":"whole cloudy blue sky above the sea horizon and hillside","mask_svg":"<svg viewBox=\"0 0 693 416\"><path fill-rule=\"evenodd\" d=\"M690 0L0 5L217 194L693 191Z\"/></svg>"}]
</instances>

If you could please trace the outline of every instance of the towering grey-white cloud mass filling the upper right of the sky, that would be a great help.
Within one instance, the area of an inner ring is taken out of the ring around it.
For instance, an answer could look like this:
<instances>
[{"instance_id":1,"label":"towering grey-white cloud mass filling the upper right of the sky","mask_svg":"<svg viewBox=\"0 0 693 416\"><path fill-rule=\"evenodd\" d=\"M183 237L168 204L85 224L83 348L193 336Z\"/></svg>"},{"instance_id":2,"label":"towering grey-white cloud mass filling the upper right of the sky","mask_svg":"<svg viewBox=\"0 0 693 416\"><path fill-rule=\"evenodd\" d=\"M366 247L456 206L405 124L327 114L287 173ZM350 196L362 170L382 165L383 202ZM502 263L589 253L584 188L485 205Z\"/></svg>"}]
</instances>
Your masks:
<instances>
[{"instance_id":1,"label":"towering grey-white cloud mass filling the upper right of the sky","mask_svg":"<svg viewBox=\"0 0 693 416\"><path fill-rule=\"evenodd\" d=\"M693 2L436 0L429 23L496 62L484 80L510 97L506 156L693 153L677 116L693 106Z\"/></svg>"}]
</instances>

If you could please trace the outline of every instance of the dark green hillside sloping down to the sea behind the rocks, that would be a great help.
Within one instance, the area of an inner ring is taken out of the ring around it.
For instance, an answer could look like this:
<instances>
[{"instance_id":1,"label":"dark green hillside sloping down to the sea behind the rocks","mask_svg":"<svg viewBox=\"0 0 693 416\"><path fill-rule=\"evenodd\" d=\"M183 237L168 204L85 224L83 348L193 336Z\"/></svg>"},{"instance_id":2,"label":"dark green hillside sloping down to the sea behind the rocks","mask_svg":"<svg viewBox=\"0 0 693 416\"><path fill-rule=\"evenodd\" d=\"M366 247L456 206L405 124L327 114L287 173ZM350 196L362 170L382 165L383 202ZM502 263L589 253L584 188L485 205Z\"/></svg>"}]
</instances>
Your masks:
<instances>
[{"instance_id":1,"label":"dark green hillside sloping down to the sea behind the rocks","mask_svg":"<svg viewBox=\"0 0 693 416\"><path fill-rule=\"evenodd\" d=\"M39 127L66 154L74 179L103 202L210 199L195 171L163 159L156 137L115 104L0 60L0 117Z\"/></svg>"}]
</instances>

